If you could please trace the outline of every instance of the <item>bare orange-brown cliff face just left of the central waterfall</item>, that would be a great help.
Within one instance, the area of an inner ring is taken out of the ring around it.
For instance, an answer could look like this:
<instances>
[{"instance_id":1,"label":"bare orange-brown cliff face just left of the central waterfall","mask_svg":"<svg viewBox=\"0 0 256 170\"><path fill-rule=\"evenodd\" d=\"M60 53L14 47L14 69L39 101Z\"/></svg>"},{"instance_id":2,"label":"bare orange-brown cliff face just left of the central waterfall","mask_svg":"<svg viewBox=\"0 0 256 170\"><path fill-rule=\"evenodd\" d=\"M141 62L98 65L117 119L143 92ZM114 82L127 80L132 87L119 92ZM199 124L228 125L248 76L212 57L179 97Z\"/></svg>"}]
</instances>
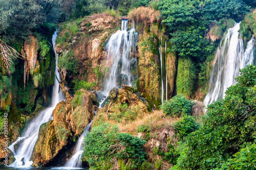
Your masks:
<instances>
[{"instance_id":1,"label":"bare orange-brown cliff face just left of the central waterfall","mask_svg":"<svg viewBox=\"0 0 256 170\"><path fill-rule=\"evenodd\" d=\"M78 61L76 73L68 72L66 81L72 85L73 80L83 80L87 83L96 83L92 88L99 90L101 88L105 68L108 67L107 57L104 51L104 45L109 37L117 30L120 25L119 18L114 18L108 14L94 14L84 17L81 23L77 25L79 31L72 33L69 28L63 26L58 38L65 37L69 32L67 43L56 44L56 52L64 54L72 51L74 59ZM116 29L113 29L116 28ZM69 39L72 43L69 43ZM73 87L70 87L73 88Z\"/></svg>"}]
</instances>

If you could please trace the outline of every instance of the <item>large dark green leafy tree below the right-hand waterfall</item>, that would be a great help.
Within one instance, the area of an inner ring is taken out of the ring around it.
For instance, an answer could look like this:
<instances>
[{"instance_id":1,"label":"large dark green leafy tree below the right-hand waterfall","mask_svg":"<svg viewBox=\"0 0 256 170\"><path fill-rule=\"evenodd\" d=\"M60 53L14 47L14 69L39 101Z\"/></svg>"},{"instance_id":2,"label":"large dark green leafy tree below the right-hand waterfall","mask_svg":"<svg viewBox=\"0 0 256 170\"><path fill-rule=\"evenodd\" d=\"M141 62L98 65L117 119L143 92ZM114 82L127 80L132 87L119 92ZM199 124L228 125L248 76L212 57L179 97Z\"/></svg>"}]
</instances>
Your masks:
<instances>
[{"instance_id":1,"label":"large dark green leafy tree below the right-hand waterfall","mask_svg":"<svg viewBox=\"0 0 256 170\"><path fill-rule=\"evenodd\" d=\"M208 106L199 130L188 134L180 145L180 157L172 169L220 168L244 144L254 140L255 79L255 66L240 70L238 83L227 89L225 99Z\"/></svg>"}]
</instances>

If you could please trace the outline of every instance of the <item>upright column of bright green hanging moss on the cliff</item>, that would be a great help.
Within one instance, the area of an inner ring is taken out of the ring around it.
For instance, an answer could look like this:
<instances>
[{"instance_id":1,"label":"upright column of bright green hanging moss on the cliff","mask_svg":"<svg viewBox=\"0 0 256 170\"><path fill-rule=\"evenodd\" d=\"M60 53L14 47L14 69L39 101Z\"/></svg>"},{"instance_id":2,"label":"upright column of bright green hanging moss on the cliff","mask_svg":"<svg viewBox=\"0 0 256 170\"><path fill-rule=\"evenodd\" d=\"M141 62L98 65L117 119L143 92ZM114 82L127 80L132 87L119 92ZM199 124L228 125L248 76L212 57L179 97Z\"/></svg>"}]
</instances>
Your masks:
<instances>
[{"instance_id":1,"label":"upright column of bright green hanging moss on the cliff","mask_svg":"<svg viewBox=\"0 0 256 170\"><path fill-rule=\"evenodd\" d=\"M177 94L190 96L196 79L196 67L189 58L179 57L176 80Z\"/></svg>"}]
</instances>

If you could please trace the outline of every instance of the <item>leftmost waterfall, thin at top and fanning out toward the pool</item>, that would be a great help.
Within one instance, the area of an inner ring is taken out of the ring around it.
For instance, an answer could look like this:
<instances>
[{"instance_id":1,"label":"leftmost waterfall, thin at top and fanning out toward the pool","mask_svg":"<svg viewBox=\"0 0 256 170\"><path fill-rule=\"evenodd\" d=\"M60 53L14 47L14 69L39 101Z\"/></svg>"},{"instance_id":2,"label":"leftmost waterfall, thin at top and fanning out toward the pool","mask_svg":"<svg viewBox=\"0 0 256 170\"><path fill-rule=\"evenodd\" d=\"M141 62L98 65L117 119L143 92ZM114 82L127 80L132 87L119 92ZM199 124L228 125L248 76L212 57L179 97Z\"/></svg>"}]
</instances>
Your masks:
<instances>
[{"instance_id":1,"label":"leftmost waterfall, thin at top and fanning out toward the pool","mask_svg":"<svg viewBox=\"0 0 256 170\"><path fill-rule=\"evenodd\" d=\"M54 32L52 36L53 47L55 47L55 40L57 36L57 31ZM55 74L60 80L60 75L57 69L57 61L58 55L55 53L56 57L56 66L55 66ZM41 112L32 120L32 122L28 125L27 129L24 131L21 137L19 137L14 143L12 143L9 149L13 152L15 161L10 166L22 166L29 167L32 165L32 161L30 161L31 155L33 153L33 149L38 138L39 128L42 124L47 123L52 119L52 112L55 109L56 105L65 100L65 95L62 93L59 88L59 83L55 77L53 92L52 92L52 103L51 106ZM17 150L14 151L14 145L20 143Z\"/></svg>"}]
</instances>

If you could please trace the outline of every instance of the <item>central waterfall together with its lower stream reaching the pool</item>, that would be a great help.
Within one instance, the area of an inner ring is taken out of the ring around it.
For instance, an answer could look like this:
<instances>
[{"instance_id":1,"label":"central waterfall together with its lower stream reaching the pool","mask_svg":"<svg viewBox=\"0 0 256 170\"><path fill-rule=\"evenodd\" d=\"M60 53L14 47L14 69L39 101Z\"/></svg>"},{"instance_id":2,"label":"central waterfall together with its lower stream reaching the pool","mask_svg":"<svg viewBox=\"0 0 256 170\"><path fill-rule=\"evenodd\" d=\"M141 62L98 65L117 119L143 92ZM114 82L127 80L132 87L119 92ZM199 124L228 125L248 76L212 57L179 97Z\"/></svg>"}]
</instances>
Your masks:
<instances>
[{"instance_id":1,"label":"central waterfall together with its lower stream reaching the pool","mask_svg":"<svg viewBox=\"0 0 256 170\"><path fill-rule=\"evenodd\" d=\"M106 55L108 56L108 64L110 64L110 71L107 79L105 80L103 95L108 95L108 92L113 88L120 88L122 84L131 85L133 81L133 76L131 75L131 62L136 54L136 43L138 33L135 30L134 22L132 22L132 28L130 31L128 29L128 20L123 19L121 23L121 30L114 33L108 43L106 44ZM98 92L99 94L100 92ZM99 94L100 95L100 94ZM103 98L100 95L99 98ZM99 99L100 105L102 100ZM84 130L83 134L79 137L75 154L66 163L67 167L81 167L81 156L83 153L82 141L89 132L90 123Z\"/></svg>"}]
</instances>

